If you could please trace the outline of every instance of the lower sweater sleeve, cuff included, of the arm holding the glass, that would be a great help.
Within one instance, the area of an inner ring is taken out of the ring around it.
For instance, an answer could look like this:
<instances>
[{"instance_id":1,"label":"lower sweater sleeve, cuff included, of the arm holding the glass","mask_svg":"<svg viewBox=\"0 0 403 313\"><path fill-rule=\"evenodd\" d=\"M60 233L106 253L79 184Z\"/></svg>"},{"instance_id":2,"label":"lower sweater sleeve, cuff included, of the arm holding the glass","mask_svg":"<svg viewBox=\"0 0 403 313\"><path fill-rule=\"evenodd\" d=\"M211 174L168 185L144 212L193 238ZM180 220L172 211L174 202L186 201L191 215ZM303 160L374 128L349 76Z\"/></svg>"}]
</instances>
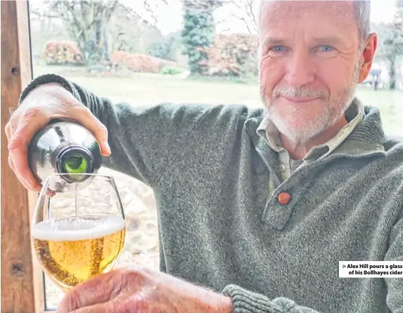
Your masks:
<instances>
[{"instance_id":1,"label":"lower sweater sleeve, cuff included, of the arm holding the glass","mask_svg":"<svg viewBox=\"0 0 403 313\"><path fill-rule=\"evenodd\" d=\"M236 285L226 286L222 293L232 298L234 313L319 313L288 298L269 300L264 295Z\"/></svg>"}]
</instances>

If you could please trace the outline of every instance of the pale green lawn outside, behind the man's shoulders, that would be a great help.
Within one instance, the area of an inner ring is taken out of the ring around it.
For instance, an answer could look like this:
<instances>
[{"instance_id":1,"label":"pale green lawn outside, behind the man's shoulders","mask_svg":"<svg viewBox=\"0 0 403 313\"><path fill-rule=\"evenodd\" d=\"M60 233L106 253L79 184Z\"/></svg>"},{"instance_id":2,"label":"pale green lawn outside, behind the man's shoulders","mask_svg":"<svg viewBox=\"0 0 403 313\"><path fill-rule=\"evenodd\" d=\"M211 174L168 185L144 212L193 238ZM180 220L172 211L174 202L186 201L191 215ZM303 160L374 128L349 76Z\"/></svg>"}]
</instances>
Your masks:
<instances>
[{"instance_id":1,"label":"pale green lawn outside, behind the man's shoulders","mask_svg":"<svg viewBox=\"0 0 403 313\"><path fill-rule=\"evenodd\" d=\"M132 105L155 105L158 102L237 103L261 107L257 84L175 78L160 74L132 74L130 77L92 77L72 73L65 67L34 66L34 76L62 74L89 91ZM365 105L380 109L388 135L403 136L403 91L372 91L360 86L357 96Z\"/></svg>"}]
</instances>

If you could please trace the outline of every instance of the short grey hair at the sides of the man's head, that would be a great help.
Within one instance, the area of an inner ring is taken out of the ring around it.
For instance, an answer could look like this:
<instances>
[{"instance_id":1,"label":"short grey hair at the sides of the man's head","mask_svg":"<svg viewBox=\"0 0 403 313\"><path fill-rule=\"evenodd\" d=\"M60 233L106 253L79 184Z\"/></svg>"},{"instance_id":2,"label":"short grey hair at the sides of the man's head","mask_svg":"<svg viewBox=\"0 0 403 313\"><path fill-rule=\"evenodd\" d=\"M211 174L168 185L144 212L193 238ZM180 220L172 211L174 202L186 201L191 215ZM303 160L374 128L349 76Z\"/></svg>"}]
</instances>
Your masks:
<instances>
[{"instance_id":1,"label":"short grey hair at the sides of the man's head","mask_svg":"<svg viewBox=\"0 0 403 313\"><path fill-rule=\"evenodd\" d=\"M260 0L259 5L259 21L262 14L264 1ZM353 1L353 15L357 22L358 36L359 36L359 50L364 49L365 41L368 39L369 31L371 28L371 1L370 0L354 0ZM260 28L260 27L259 27Z\"/></svg>"}]
</instances>

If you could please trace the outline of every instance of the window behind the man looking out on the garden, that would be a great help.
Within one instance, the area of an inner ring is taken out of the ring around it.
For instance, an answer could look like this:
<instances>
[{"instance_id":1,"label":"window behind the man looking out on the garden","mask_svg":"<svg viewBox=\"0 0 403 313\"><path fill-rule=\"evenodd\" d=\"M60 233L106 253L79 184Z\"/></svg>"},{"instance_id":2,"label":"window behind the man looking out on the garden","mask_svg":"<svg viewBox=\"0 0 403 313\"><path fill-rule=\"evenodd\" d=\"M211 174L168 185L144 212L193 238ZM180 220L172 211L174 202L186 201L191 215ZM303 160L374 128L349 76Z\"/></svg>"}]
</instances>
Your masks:
<instances>
[{"instance_id":1,"label":"window behind the man looking out on the garden","mask_svg":"<svg viewBox=\"0 0 403 313\"><path fill-rule=\"evenodd\" d=\"M395 1L385 3L380 10L372 10L372 28L380 36L388 33L397 11ZM60 74L96 95L134 106L169 101L262 107L257 83L256 4L253 0L222 4L190 0L32 1L33 76ZM186 41L191 29L183 23L192 14L196 19L198 14L208 15L212 23L198 24L212 31L203 39L210 41L209 46L197 57L192 54L197 49ZM380 42L380 48L385 48L385 43ZM396 58L394 78L390 72L390 62L378 53L373 72L357 88L357 96L365 105L380 109L388 135L402 136L401 56ZM389 89L392 81L393 91ZM117 187L127 214L127 239L118 265L137 263L158 269L153 190L108 168L102 172L119 177ZM54 308L63 293L47 278L45 287L46 307Z\"/></svg>"}]
</instances>

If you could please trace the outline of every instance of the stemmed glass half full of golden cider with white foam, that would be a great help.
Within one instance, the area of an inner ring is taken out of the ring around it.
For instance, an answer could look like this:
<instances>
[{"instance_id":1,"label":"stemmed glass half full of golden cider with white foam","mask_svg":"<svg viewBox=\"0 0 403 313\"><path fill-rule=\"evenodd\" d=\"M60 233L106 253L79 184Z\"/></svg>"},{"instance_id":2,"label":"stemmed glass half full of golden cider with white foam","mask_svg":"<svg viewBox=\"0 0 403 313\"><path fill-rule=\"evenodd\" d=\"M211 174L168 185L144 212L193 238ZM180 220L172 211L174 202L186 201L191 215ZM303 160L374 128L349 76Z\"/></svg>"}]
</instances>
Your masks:
<instances>
[{"instance_id":1,"label":"stemmed glass half full of golden cider with white foam","mask_svg":"<svg viewBox=\"0 0 403 313\"><path fill-rule=\"evenodd\" d=\"M32 217L32 244L44 272L64 292L112 269L125 232L112 177L53 174L44 182Z\"/></svg>"}]
</instances>

